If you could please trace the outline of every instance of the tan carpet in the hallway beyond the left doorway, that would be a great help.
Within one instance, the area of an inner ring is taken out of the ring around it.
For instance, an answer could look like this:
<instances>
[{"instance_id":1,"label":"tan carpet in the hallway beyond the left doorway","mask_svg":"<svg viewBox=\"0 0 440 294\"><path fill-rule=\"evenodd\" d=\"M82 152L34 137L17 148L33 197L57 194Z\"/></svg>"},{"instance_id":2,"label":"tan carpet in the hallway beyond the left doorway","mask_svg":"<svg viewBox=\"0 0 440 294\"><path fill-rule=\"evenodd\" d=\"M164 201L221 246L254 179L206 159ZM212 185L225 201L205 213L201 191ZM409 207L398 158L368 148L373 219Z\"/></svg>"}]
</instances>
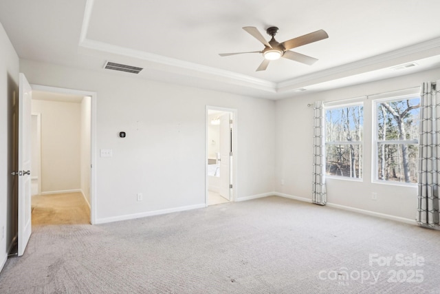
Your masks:
<instances>
[{"instance_id":1,"label":"tan carpet in the hallway beyond the left doorway","mask_svg":"<svg viewBox=\"0 0 440 294\"><path fill-rule=\"evenodd\" d=\"M81 193L32 196L32 226L89 223L90 209Z\"/></svg>"}]
</instances>

